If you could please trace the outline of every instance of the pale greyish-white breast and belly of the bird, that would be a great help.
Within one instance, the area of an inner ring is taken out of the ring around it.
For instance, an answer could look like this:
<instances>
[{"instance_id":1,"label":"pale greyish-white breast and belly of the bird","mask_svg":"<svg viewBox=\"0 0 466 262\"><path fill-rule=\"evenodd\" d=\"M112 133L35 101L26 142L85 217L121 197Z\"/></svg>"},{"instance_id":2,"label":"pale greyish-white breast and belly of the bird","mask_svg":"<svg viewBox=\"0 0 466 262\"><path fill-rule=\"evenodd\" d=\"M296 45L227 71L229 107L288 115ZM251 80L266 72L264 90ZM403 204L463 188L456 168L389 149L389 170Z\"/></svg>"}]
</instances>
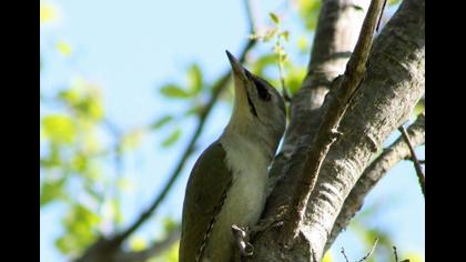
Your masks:
<instances>
[{"instance_id":1,"label":"pale greyish-white breast and belly of the bird","mask_svg":"<svg viewBox=\"0 0 466 262\"><path fill-rule=\"evenodd\" d=\"M221 143L226 151L226 164L233 171L233 183L217 214L204 251L204 262L223 262L231 254L233 238L231 225L254 225L265 204L267 184L267 160L262 151L240 137L223 137Z\"/></svg>"}]
</instances>

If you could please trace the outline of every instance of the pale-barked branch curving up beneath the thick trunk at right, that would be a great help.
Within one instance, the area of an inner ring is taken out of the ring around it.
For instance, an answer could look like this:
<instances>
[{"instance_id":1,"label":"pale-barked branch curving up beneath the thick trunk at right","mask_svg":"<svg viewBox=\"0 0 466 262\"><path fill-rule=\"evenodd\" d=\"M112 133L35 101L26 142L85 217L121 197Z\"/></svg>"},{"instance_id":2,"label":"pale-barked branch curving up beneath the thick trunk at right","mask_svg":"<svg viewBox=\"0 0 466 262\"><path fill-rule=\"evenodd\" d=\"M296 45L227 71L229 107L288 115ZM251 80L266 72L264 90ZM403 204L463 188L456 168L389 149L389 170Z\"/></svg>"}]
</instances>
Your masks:
<instances>
[{"instance_id":1,"label":"pale-barked branch curving up beneath the thick trunk at right","mask_svg":"<svg viewBox=\"0 0 466 262\"><path fill-rule=\"evenodd\" d=\"M419 114L417 117L417 120L408 128L407 133L414 147L418 147L425 142L425 114ZM409 149L403 141L403 138L398 138L395 142L384 149L382 154L364 170L364 173L357 180L357 183L352 189L340 211L325 250L332 246L336 236L350 224L350 221L354 218L356 212L361 210L364 199L375 184L388 170L407 158L409 158Z\"/></svg>"}]
</instances>

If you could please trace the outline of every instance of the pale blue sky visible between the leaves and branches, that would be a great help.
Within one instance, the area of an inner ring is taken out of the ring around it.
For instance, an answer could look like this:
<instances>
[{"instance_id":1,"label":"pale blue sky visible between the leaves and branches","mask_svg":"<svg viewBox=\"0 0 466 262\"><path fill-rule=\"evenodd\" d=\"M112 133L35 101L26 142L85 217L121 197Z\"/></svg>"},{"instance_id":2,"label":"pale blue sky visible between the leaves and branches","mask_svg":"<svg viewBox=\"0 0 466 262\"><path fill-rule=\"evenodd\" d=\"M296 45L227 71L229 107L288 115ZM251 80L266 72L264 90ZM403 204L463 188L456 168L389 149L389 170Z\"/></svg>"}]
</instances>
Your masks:
<instances>
[{"instance_id":1,"label":"pale blue sky visible between the leaves and branches","mask_svg":"<svg viewBox=\"0 0 466 262\"><path fill-rule=\"evenodd\" d=\"M41 28L41 53L44 68L41 90L52 93L78 78L95 82L102 90L105 113L123 130L144 125L155 118L181 112L183 103L162 99L158 87L169 81L183 81L182 73L191 62L199 62L207 81L227 69L224 54L227 49L237 53L247 37L246 17L242 1L44 1L59 10L53 24ZM280 13L283 1L254 1L260 21L267 12ZM291 30L291 42L300 31L296 20L284 21ZM310 37L310 36L307 36ZM65 58L54 49L58 41L71 44L72 54ZM269 50L261 47L261 50ZM285 47L286 48L286 47ZM296 59L306 64L307 58ZM223 130L230 117L230 107L219 104L206 124L200 147L206 147ZM156 194L184 148L194 122L182 123L183 137L173 148L161 149L160 141L170 130L151 135L135 153L125 159L124 175L134 182L138 192L130 192L123 201L126 215L132 221ZM201 150L200 149L200 150ZM201 152L190 159L182 178L175 184L159 215L180 218L184 184L189 171ZM424 149L419 150L424 158ZM417 187L413 167L403 162L393 169L376 187L366 201L367 205L384 204L384 212L368 223L388 229L393 241L405 251L424 253L425 208ZM61 204L41 210L41 261L63 261L53 246L61 234ZM156 235L160 219L153 219L138 232ZM343 233L334 244L336 253L345 246L350 256L358 258L365 251L351 232ZM340 258L338 258L340 260Z\"/></svg>"}]
</instances>

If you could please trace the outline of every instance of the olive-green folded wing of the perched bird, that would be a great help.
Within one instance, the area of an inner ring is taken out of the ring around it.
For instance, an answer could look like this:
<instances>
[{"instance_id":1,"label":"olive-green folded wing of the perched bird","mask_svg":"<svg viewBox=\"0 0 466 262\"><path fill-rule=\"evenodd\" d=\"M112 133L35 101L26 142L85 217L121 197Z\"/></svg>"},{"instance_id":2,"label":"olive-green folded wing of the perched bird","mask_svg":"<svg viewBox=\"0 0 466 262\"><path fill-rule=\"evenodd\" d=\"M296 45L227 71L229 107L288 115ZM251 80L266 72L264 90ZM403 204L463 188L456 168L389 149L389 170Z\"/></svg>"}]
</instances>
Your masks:
<instances>
[{"instance_id":1,"label":"olive-green folded wing of the perched bird","mask_svg":"<svg viewBox=\"0 0 466 262\"><path fill-rule=\"evenodd\" d=\"M232 174L225 155L222 144L215 142L201 154L191 171L183 203L180 262L195 261L230 189Z\"/></svg>"}]
</instances>

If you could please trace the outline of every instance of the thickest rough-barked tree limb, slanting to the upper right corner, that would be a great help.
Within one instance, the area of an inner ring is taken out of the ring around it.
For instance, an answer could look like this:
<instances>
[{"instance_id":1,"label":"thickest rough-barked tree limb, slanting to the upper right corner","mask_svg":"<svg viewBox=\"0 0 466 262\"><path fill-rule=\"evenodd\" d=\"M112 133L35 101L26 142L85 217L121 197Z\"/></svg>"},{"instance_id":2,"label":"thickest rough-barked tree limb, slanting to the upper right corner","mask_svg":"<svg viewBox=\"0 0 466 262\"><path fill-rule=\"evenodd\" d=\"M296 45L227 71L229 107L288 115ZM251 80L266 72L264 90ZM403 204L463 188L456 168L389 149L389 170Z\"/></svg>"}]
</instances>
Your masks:
<instances>
[{"instance_id":1,"label":"thickest rough-barked tree limb, slanting to the upper right corner","mask_svg":"<svg viewBox=\"0 0 466 262\"><path fill-rule=\"evenodd\" d=\"M321 260L347 194L377 148L406 119L424 93L424 12L425 1L405 0L376 38L365 79L342 119L340 131L343 135L332 145L322 165L308 201L305 224L294 246L283 249L276 238L280 229L272 229L256 238L253 243L255 255L251 261ZM293 118L310 122L307 114ZM294 155L285 167L302 161ZM288 170L286 175L293 175L293 172ZM276 188L281 190L272 192L267 216L273 215L280 204L287 203L285 192L291 188L283 181Z\"/></svg>"}]
</instances>

